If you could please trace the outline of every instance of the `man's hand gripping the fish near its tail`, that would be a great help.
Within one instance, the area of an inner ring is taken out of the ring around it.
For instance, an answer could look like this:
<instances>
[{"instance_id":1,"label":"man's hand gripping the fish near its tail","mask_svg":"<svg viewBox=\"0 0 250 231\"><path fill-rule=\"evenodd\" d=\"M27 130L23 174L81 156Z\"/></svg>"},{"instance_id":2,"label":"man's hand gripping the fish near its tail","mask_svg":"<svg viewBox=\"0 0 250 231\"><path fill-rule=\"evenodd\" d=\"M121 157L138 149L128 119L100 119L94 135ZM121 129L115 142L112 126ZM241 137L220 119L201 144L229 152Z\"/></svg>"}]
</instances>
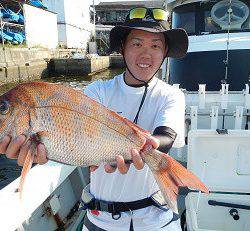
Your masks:
<instances>
[{"instance_id":1,"label":"man's hand gripping the fish near its tail","mask_svg":"<svg viewBox=\"0 0 250 231\"><path fill-rule=\"evenodd\" d=\"M159 141L153 136L147 136L144 147L147 147L148 145L151 145L153 148L157 149L159 147ZM141 170L144 167L144 161L142 159L142 156L143 156L143 150L141 152L138 152L136 149L131 150L132 163L134 164L137 170ZM104 169L107 173L113 173L118 168L120 173L126 174L129 170L129 167L130 164L126 163L121 155L116 156L116 167L110 164L104 165ZM97 168L98 168L97 166L91 166L90 171L93 172Z\"/></svg>"}]
</instances>

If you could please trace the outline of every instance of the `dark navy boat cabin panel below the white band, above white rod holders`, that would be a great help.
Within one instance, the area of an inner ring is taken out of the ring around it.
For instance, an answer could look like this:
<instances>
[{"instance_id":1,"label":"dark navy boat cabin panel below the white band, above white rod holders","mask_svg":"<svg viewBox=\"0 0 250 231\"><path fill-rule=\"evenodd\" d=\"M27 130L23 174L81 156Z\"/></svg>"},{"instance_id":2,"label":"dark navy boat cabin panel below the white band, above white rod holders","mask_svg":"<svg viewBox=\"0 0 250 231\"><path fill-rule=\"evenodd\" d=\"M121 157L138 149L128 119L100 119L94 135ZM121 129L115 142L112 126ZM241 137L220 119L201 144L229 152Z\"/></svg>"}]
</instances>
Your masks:
<instances>
[{"instance_id":1,"label":"dark navy boat cabin panel below the white band, above white rod holders","mask_svg":"<svg viewBox=\"0 0 250 231\"><path fill-rule=\"evenodd\" d=\"M170 84L180 84L188 91L197 91L206 84L207 91L219 91L225 79L225 50L189 52L183 59L169 60ZM249 83L249 49L230 50L227 83L230 91L241 91ZM240 67L240 68L239 68Z\"/></svg>"}]
</instances>

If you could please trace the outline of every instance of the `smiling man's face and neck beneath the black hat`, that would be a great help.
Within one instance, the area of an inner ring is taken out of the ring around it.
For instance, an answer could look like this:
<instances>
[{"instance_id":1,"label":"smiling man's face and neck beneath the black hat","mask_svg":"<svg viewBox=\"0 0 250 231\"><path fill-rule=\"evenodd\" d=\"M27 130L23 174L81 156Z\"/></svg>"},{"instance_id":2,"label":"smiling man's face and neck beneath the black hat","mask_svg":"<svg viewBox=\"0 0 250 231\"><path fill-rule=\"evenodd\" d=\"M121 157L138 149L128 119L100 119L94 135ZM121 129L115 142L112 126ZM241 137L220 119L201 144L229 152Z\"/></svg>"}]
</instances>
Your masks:
<instances>
[{"instance_id":1,"label":"smiling man's face and neck beneath the black hat","mask_svg":"<svg viewBox=\"0 0 250 231\"><path fill-rule=\"evenodd\" d=\"M162 33L150 33L132 30L124 44L124 56L132 74L143 81L148 81L159 69L166 55L165 38ZM141 84L126 70L128 84Z\"/></svg>"}]
</instances>

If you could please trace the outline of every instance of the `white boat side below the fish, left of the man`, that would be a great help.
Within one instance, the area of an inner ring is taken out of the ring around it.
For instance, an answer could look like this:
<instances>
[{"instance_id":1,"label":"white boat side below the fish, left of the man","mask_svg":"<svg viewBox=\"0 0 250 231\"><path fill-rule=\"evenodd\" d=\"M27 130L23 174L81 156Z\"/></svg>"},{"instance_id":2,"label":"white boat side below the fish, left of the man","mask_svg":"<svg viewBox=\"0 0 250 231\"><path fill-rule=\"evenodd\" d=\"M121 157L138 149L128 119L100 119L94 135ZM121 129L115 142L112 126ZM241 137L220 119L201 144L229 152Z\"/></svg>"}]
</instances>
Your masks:
<instances>
[{"instance_id":1,"label":"white boat side below the fish, left of the man","mask_svg":"<svg viewBox=\"0 0 250 231\"><path fill-rule=\"evenodd\" d=\"M88 170L49 161L27 175L22 200L19 178L0 191L0 230L77 230Z\"/></svg>"}]
</instances>

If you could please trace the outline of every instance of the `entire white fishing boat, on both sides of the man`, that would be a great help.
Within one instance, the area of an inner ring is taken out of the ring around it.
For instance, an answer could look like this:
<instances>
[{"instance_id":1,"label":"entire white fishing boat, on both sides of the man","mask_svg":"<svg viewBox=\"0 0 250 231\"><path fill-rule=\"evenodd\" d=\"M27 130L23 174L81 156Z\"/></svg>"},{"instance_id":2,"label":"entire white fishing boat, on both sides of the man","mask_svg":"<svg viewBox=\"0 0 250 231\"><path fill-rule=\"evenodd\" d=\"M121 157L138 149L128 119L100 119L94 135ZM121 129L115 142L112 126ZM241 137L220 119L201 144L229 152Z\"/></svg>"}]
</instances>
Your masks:
<instances>
[{"instance_id":1,"label":"entire white fishing boat, on both sides of the man","mask_svg":"<svg viewBox=\"0 0 250 231\"><path fill-rule=\"evenodd\" d=\"M183 229L250 230L250 2L166 3L173 27L187 29L190 41L185 58L168 62L169 82L186 96L187 144L171 154L211 190L192 191L180 203ZM0 191L0 229L76 230L86 179L86 169L53 162L33 167L22 204L19 179Z\"/></svg>"}]
</instances>

